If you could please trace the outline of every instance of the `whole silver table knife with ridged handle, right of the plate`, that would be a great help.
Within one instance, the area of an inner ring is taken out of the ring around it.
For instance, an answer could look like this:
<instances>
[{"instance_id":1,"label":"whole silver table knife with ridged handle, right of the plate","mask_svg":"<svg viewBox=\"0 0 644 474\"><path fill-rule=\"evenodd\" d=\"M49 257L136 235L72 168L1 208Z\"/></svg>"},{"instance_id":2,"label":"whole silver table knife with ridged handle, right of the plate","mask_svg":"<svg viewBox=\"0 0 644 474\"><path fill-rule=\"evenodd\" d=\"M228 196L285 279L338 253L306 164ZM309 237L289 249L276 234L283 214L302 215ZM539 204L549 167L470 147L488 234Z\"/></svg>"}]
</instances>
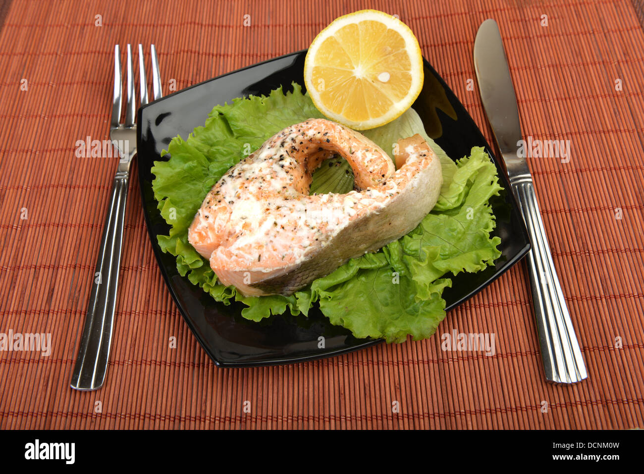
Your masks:
<instances>
[{"instance_id":1,"label":"whole silver table knife with ridged handle, right of the plate","mask_svg":"<svg viewBox=\"0 0 644 474\"><path fill-rule=\"evenodd\" d=\"M587 377L586 367L554 270L532 175L526 158L517 153L522 138L515 89L501 34L493 19L484 21L478 28L474 67L483 107L532 242L527 263L545 378L555 383L582 381Z\"/></svg>"}]
</instances>

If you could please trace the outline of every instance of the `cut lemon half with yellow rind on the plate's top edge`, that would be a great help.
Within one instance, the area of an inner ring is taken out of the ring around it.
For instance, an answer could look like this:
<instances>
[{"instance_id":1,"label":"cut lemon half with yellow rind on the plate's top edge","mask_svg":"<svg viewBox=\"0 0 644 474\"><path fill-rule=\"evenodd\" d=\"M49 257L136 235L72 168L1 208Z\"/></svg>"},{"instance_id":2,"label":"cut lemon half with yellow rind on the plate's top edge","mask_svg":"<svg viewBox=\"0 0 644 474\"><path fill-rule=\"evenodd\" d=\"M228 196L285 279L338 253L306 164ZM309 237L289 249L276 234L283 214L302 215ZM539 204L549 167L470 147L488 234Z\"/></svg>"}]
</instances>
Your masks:
<instances>
[{"instance_id":1,"label":"cut lemon half with yellow rind on the plate's top edge","mask_svg":"<svg viewBox=\"0 0 644 474\"><path fill-rule=\"evenodd\" d=\"M423 83L422 53L412 30L378 10L337 18L308 48L304 82L329 119L364 130L396 119Z\"/></svg>"}]
</instances>

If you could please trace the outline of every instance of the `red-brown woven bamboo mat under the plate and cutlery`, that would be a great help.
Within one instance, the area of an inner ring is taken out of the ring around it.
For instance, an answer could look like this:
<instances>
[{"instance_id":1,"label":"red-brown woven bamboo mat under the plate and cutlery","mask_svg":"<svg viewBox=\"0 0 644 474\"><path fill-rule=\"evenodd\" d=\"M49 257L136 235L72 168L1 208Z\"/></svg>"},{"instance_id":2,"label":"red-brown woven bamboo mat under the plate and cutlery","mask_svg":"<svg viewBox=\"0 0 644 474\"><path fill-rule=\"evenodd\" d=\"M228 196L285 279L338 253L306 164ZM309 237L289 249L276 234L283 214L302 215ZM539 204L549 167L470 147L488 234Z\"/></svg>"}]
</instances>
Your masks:
<instances>
[{"instance_id":1,"label":"red-brown woven bamboo mat under the plate and cutlery","mask_svg":"<svg viewBox=\"0 0 644 474\"><path fill-rule=\"evenodd\" d=\"M169 79L184 88L306 48L332 19L361 8L412 28L490 142L467 85L478 25L497 19L524 135L571 140L568 163L531 165L588 379L544 383L523 263L451 311L427 341L216 368L156 267L135 170L106 384L71 390L116 167L76 158L75 142L108 137L114 44L155 43L167 93ZM0 352L0 428L644 428L638 11L627 0L14 0L0 32L0 333L51 333L52 352ZM496 334L496 354L442 352L440 334L454 328Z\"/></svg>"}]
</instances>

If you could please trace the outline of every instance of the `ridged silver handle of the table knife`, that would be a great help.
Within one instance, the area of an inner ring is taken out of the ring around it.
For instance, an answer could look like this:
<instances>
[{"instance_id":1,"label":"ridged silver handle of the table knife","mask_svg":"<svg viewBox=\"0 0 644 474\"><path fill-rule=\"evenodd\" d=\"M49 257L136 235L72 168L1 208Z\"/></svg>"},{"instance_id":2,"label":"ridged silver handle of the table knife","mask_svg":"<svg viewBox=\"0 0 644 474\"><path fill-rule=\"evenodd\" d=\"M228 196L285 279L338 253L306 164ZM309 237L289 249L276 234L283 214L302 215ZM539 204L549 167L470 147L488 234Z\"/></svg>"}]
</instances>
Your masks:
<instances>
[{"instance_id":1,"label":"ridged silver handle of the table knife","mask_svg":"<svg viewBox=\"0 0 644 474\"><path fill-rule=\"evenodd\" d=\"M545 378L555 383L580 382L587 377L586 368L554 269L532 178L521 176L511 187L532 242L527 263Z\"/></svg>"}]
</instances>

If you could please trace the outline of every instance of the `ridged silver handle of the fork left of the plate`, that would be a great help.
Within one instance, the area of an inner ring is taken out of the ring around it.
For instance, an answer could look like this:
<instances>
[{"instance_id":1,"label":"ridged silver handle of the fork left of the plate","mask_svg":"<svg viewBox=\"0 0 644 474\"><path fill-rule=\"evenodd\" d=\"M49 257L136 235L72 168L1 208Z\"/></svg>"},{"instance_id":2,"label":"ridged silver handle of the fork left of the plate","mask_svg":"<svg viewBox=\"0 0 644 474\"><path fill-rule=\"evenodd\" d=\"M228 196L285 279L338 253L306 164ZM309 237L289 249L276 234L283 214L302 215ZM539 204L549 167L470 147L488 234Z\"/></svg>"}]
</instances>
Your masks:
<instances>
[{"instance_id":1,"label":"ridged silver handle of the fork left of the plate","mask_svg":"<svg viewBox=\"0 0 644 474\"><path fill-rule=\"evenodd\" d=\"M114 177L108 215L100 241L99 259L93 275L79 354L71 376L71 388L76 390L100 388L108 368L128 182L129 171L118 171Z\"/></svg>"}]
</instances>

